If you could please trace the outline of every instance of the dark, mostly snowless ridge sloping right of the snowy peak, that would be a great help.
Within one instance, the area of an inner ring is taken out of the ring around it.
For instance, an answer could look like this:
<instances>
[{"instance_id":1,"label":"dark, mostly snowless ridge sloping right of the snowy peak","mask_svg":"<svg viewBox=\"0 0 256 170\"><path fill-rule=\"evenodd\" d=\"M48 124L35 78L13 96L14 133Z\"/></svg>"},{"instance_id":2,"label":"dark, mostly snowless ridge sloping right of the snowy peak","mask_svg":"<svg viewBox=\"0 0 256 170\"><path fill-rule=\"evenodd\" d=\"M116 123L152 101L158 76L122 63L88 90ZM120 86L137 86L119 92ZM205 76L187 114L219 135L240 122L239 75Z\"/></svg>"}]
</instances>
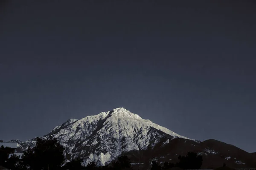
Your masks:
<instances>
[{"instance_id":1,"label":"dark, mostly snowless ridge sloping right of the snowy peak","mask_svg":"<svg viewBox=\"0 0 256 170\"><path fill-rule=\"evenodd\" d=\"M195 152L203 157L201 169L215 169L224 163L232 168L256 168L256 156L215 139L195 142L188 139L176 138L168 144L159 142L154 148L130 151L126 155L134 164L134 169L150 169L153 160L160 163L178 162L177 156L185 156L187 152Z\"/></svg>"}]
</instances>

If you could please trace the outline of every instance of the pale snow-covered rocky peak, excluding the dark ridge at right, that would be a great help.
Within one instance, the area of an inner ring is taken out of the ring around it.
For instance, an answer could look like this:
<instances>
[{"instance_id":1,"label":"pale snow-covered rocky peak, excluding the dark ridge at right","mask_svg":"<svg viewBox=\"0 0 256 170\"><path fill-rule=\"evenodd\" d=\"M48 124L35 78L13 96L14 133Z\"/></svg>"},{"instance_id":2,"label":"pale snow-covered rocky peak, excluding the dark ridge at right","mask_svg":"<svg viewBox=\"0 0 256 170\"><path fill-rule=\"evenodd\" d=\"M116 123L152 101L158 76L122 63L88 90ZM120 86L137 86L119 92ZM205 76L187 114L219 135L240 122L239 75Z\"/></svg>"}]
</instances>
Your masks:
<instances>
[{"instance_id":1,"label":"pale snow-covered rocky peak, excluding the dark ridge at right","mask_svg":"<svg viewBox=\"0 0 256 170\"><path fill-rule=\"evenodd\" d=\"M124 108L80 120L69 119L42 138L50 135L64 146L66 161L81 157L84 165L91 161L105 165L124 152L145 150L160 141L168 143L175 138L188 139ZM15 142L20 144L22 150L35 145L35 139Z\"/></svg>"}]
</instances>

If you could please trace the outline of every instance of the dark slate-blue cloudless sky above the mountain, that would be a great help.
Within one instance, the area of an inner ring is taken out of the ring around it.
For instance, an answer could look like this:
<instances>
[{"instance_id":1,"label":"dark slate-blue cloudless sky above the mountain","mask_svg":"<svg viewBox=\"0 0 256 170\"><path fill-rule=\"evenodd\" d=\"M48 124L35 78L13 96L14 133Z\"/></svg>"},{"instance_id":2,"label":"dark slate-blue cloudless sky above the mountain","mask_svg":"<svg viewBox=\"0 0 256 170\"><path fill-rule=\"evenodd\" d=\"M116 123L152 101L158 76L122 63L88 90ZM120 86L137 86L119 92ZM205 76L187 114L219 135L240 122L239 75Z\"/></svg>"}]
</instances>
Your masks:
<instances>
[{"instance_id":1,"label":"dark slate-blue cloudless sky above the mountain","mask_svg":"<svg viewBox=\"0 0 256 170\"><path fill-rule=\"evenodd\" d=\"M0 139L123 106L256 151L254 0L0 2Z\"/></svg>"}]
</instances>

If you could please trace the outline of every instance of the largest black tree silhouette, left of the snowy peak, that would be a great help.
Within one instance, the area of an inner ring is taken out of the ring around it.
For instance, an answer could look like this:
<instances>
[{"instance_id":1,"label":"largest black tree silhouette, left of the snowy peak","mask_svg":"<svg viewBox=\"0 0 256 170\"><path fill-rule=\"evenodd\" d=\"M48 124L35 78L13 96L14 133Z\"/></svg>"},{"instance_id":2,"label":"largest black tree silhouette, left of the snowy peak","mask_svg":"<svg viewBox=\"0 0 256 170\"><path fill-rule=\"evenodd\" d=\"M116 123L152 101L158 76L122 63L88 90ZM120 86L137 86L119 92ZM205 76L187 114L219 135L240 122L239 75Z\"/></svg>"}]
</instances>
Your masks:
<instances>
[{"instance_id":1,"label":"largest black tree silhouette, left of the snowy peak","mask_svg":"<svg viewBox=\"0 0 256 170\"><path fill-rule=\"evenodd\" d=\"M36 139L36 145L23 155L23 163L29 170L56 170L64 161L64 147L50 136Z\"/></svg>"}]
</instances>

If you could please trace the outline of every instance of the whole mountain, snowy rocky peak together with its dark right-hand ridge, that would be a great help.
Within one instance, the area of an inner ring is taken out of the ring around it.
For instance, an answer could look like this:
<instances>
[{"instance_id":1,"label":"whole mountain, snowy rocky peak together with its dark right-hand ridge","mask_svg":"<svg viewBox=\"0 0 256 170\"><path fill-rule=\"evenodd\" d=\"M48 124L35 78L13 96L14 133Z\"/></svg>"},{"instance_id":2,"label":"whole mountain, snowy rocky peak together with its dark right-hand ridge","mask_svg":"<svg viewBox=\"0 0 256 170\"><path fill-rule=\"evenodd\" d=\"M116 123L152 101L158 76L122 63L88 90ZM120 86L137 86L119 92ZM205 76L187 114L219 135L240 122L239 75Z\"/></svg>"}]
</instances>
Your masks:
<instances>
[{"instance_id":1,"label":"whole mountain, snowy rocky peak together with its dark right-hand ridge","mask_svg":"<svg viewBox=\"0 0 256 170\"><path fill-rule=\"evenodd\" d=\"M203 156L202 168L220 167L223 163L230 167L256 167L253 153L213 139L199 142L180 136L124 108L80 120L69 119L42 138L49 136L64 146L66 162L81 157L83 165L91 161L105 165L126 154L134 167L147 169L152 160L176 163L178 155L192 151ZM20 145L20 151L35 145L35 139L12 142Z\"/></svg>"}]
</instances>

